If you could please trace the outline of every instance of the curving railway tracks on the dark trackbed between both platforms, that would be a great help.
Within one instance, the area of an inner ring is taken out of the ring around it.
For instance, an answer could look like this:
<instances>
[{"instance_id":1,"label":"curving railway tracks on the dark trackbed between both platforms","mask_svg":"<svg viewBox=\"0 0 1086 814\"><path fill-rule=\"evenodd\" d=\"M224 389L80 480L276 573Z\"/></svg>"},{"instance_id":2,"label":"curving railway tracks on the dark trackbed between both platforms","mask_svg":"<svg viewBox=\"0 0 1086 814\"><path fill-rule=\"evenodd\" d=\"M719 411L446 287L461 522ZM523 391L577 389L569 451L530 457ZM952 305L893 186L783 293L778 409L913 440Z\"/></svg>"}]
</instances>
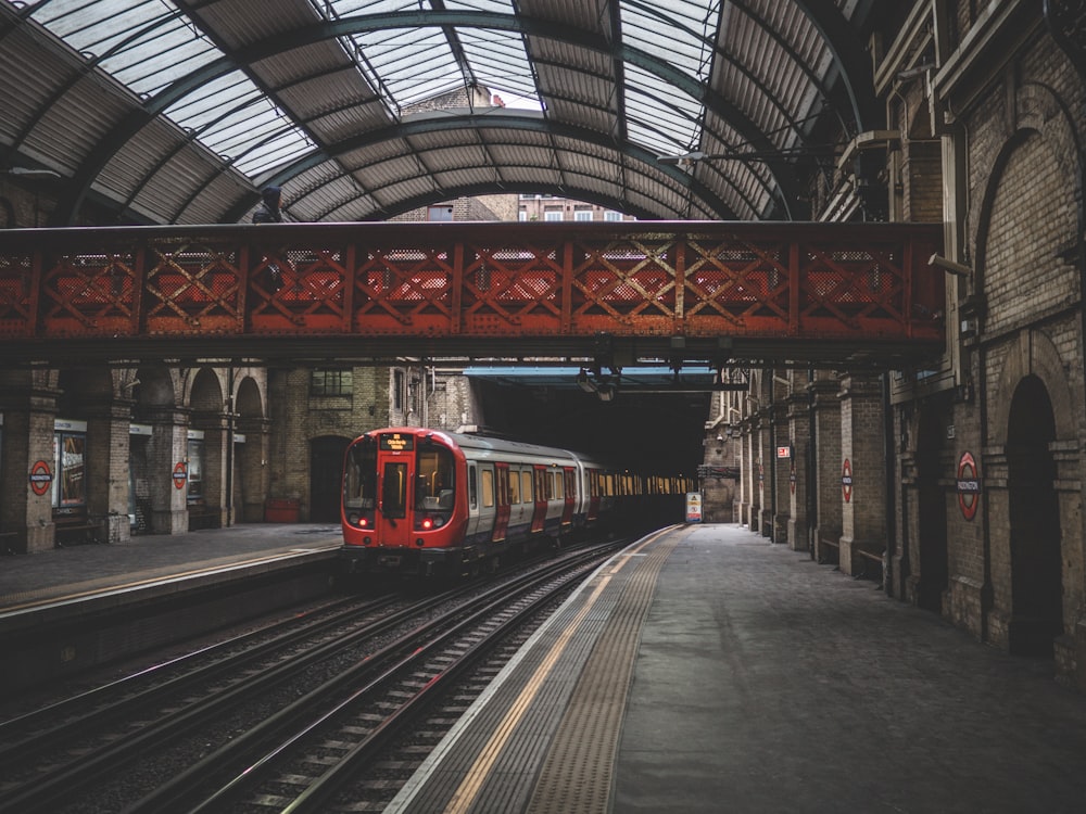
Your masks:
<instances>
[{"instance_id":1,"label":"curving railway tracks on the dark trackbed between both platforms","mask_svg":"<svg viewBox=\"0 0 1086 814\"><path fill-rule=\"evenodd\" d=\"M482 594L349 602L5 722L0 812L325 811L435 694L602 556L567 555Z\"/></svg>"}]
</instances>

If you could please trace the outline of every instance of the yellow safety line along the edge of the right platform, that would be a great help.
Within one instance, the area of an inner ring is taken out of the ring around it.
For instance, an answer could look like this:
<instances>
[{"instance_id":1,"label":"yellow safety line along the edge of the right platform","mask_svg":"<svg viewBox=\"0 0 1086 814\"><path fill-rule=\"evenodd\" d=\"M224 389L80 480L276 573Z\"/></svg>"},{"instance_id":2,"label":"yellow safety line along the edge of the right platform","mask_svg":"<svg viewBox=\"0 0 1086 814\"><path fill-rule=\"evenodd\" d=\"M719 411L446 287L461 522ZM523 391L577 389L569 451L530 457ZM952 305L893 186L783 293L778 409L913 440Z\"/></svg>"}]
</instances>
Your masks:
<instances>
[{"instance_id":1,"label":"yellow safety line along the edge of the right platform","mask_svg":"<svg viewBox=\"0 0 1086 814\"><path fill-rule=\"evenodd\" d=\"M453 794L449 804L445 806L445 814L465 814L471 804L476 801L479 792L482 790L482 785L485 783L487 778L490 776L490 772L494 766L494 762L497 760L502 750L505 748L506 742L513 736L513 730L516 729L517 724L528 712L528 708L531 707L535 696L539 695L540 688L543 686L543 682L551 674L551 670L554 667L555 662L565 652L566 647L569 645L570 639L577 632L578 626L584 621L584 618L589 615L592 607L595 605L599 595L603 593L604 588L610 583L611 577L617 574L622 567L629 562L631 554L639 554L641 549L648 546L651 543L656 542L656 539L664 534L666 534L670 529L665 529L657 534L648 537L643 543L641 543L633 551L621 557L621 559L615 564L615 567L599 581L596 585L595 590L584 602L584 606L578 611L573 621L566 626L558 640L551 646L550 652L547 652L546 658L543 662L535 669L535 673L529 679L528 684L521 690L517 700L514 702L513 707L506 713L505 718L491 735L490 740L487 746L483 747L479 756L476 758L476 762L468 770L467 775L460 781L459 788L456 789L456 793Z\"/></svg>"}]
</instances>

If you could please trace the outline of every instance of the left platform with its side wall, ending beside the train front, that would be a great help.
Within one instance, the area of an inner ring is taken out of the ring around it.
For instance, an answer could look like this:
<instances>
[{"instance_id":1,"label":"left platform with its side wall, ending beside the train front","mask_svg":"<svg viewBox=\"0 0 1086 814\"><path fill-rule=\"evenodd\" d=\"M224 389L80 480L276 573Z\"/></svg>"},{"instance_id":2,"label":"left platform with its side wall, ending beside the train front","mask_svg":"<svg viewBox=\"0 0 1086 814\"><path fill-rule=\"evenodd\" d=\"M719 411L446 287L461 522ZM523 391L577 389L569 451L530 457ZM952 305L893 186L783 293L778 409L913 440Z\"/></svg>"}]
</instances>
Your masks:
<instances>
[{"instance_id":1,"label":"left platform with its side wall, ending beside the train front","mask_svg":"<svg viewBox=\"0 0 1086 814\"><path fill-rule=\"evenodd\" d=\"M258 523L0 558L0 692L179 643L331 590L336 525Z\"/></svg>"}]
</instances>

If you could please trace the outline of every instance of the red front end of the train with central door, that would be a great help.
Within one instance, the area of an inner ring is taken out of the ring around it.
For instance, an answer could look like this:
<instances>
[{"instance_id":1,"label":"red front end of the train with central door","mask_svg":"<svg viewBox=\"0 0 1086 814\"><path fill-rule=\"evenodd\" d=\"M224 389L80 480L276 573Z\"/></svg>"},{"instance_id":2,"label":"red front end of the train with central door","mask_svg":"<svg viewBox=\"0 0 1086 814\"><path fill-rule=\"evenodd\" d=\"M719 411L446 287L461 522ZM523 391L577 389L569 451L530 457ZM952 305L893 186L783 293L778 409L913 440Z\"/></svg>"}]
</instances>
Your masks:
<instances>
[{"instance_id":1,"label":"red front end of the train with central door","mask_svg":"<svg viewBox=\"0 0 1086 814\"><path fill-rule=\"evenodd\" d=\"M433 430L375 430L346 450L344 569L351 574L459 572L467 527L463 451Z\"/></svg>"}]
</instances>

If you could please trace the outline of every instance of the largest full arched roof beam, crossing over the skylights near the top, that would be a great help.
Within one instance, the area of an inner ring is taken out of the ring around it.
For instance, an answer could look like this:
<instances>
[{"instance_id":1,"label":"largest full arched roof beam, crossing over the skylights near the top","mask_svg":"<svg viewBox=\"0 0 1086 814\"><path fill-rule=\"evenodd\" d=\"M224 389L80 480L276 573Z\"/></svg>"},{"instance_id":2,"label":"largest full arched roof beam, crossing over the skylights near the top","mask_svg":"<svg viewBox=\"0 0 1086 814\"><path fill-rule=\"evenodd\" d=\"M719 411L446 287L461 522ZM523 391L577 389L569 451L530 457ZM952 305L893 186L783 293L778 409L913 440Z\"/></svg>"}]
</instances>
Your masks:
<instances>
[{"instance_id":1,"label":"largest full arched roof beam, crossing over the skylights near the top","mask_svg":"<svg viewBox=\"0 0 1086 814\"><path fill-rule=\"evenodd\" d=\"M621 43L608 43L596 36L577 31L568 26L509 14L476 11L419 11L374 14L324 21L306 28L299 28L269 37L245 48L238 49L232 54L215 60L156 93L141 109L126 115L87 154L79 170L73 176L68 194L62 201L58 202L54 212L54 222L59 225L71 222L84 198L90 190L94 178L101 174L109 161L121 149L121 145L127 143L146 125L153 120L155 116L169 107L169 105L182 99L204 82L230 71L238 69L240 66L327 39L387 28L442 27L450 25L512 30L523 35L566 42L608 55L617 54L623 62L635 64L664 79L682 92L699 100L706 107L709 107L721 116L721 118L728 120L754 150L768 154L774 151L769 137L743 111L719 94L711 92L706 86L666 61L639 49ZM790 202L797 200L798 190L792 178L790 167L783 160L767 161L766 165L772 173L773 180L779 188L779 193L774 195L778 205L781 206L785 214L791 214Z\"/></svg>"}]
</instances>

